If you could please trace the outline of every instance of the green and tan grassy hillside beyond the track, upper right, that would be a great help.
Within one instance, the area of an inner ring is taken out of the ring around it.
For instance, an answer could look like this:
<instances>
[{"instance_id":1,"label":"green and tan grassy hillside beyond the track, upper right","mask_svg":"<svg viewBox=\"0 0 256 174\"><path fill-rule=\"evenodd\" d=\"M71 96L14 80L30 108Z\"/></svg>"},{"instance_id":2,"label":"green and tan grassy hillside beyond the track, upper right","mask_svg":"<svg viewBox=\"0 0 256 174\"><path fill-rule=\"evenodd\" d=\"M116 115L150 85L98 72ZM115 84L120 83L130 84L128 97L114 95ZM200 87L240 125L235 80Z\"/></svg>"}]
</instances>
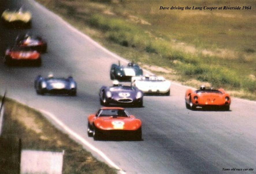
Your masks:
<instances>
[{"instance_id":1,"label":"green and tan grassy hillside beyond the track, upper right","mask_svg":"<svg viewBox=\"0 0 256 174\"><path fill-rule=\"evenodd\" d=\"M171 70L158 72L171 80L256 99L256 1L38 1L126 59ZM251 10L159 10L238 5Z\"/></svg>"}]
</instances>

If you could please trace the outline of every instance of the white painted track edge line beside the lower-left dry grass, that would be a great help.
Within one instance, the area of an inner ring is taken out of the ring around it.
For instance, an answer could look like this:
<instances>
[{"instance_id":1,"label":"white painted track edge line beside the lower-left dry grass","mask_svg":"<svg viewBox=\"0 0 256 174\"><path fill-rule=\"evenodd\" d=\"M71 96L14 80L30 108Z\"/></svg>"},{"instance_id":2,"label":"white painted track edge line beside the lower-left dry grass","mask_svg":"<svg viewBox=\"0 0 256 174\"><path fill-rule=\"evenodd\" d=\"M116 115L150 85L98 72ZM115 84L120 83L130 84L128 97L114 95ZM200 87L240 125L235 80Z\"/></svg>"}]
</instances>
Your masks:
<instances>
[{"instance_id":1,"label":"white painted track edge line beside the lower-left dry grass","mask_svg":"<svg viewBox=\"0 0 256 174\"><path fill-rule=\"evenodd\" d=\"M91 150L95 151L97 154L99 154L104 160L106 160L106 162L114 167L115 169L117 169L120 173L125 174L126 172L123 171L120 167L118 167L111 159L109 159L102 151L100 151L99 149L97 149L96 147L94 147L93 145L91 145L88 141L86 141L85 139L82 138L82 136L80 136L79 134L77 134L76 132L74 132L73 130L71 130L70 128L68 128L68 126L66 126L63 122L61 122L59 119L57 119L57 117L55 117L54 114L42 110L39 110L40 112L48 115L51 119L53 119L55 121L55 123L57 123L61 128L63 128L66 132L68 132L68 134L74 136L77 140L79 140L83 145L86 145L87 147L89 147Z\"/></svg>"}]
</instances>

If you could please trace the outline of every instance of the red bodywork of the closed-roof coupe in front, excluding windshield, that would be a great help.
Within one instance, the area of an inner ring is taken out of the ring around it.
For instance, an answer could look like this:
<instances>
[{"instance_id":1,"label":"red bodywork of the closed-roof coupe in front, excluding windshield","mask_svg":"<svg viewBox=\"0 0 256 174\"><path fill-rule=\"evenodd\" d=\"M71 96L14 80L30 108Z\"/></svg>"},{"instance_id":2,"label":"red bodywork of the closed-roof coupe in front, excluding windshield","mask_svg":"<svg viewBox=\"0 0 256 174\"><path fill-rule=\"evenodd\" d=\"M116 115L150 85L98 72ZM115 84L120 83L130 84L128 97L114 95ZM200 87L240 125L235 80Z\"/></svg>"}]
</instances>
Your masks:
<instances>
[{"instance_id":1,"label":"red bodywork of the closed-roof coupe in front, excluding windshield","mask_svg":"<svg viewBox=\"0 0 256 174\"><path fill-rule=\"evenodd\" d=\"M124 111L124 108L103 107L100 110ZM118 115L98 117L97 114L92 114L88 116L88 135L93 136L94 139L98 139L100 134L101 136L111 136L111 134L122 136L124 132L135 136L137 139L141 139L141 120L136 119L133 115L127 115L127 117Z\"/></svg>"}]
</instances>

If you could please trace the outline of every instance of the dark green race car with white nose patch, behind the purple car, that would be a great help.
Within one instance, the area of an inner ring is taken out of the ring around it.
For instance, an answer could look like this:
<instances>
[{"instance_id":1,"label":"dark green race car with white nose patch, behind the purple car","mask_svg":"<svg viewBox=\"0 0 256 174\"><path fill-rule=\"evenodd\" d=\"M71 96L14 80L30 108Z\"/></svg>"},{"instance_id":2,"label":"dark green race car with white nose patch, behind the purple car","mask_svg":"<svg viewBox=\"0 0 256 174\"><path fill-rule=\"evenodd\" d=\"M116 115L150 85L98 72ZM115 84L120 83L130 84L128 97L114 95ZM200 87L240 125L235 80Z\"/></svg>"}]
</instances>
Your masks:
<instances>
[{"instance_id":1,"label":"dark green race car with white nose patch, behind the purple car","mask_svg":"<svg viewBox=\"0 0 256 174\"><path fill-rule=\"evenodd\" d=\"M117 64L112 64L110 69L111 80L117 79L119 81L130 81L133 76L142 76L143 71L139 65L130 62L127 66L120 65L120 61Z\"/></svg>"}]
</instances>

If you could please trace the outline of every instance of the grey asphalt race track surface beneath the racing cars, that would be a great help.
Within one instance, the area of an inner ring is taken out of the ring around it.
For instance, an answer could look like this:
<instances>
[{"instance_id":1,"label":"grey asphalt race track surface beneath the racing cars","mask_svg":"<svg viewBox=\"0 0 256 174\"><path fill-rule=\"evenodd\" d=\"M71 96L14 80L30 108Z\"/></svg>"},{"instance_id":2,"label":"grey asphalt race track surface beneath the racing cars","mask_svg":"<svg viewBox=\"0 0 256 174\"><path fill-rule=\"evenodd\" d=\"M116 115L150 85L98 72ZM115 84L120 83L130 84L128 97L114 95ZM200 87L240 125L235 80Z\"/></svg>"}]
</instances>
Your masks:
<instances>
[{"instance_id":1,"label":"grey asphalt race track surface beneath the racing cars","mask_svg":"<svg viewBox=\"0 0 256 174\"><path fill-rule=\"evenodd\" d=\"M126 173L223 173L222 168L255 172L256 102L231 98L231 111L190 111L184 101L187 87L176 84L171 85L171 96L145 96L143 108L127 108L142 120L143 141L87 137L87 116L101 107L98 90L111 85L110 66L118 59L31 0L0 0L0 4L1 13L23 5L33 17L31 29L0 26L1 57L20 32L41 35L48 42L41 67L7 67L0 60L1 94L7 89L8 97L54 114ZM78 95L38 96L33 81L48 72L72 75Z\"/></svg>"}]
</instances>

